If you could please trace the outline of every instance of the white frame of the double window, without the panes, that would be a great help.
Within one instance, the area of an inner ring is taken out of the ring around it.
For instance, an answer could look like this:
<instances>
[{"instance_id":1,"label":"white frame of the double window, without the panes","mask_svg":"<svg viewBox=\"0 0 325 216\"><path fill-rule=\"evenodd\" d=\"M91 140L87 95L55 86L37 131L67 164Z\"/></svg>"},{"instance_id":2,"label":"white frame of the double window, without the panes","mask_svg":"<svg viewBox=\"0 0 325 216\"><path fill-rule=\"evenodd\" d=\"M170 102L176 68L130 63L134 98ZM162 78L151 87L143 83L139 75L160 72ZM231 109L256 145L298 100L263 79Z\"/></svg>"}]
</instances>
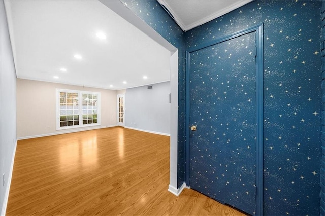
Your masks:
<instances>
[{"instance_id":1,"label":"white frame of the double window, without the panes","mask_svg":"<svg viewBox=\"0 0 325 216\"><path fill-rule=\"evenodd\" d=\"M67 130L74 128L92 127L101 125L101 93L100 92L90 92L90 91L78 91L71 89L55 89L56 90L56 130ZM60 125L60 92L66 93L78 93L78 103L79 103L79 125L63 126ZM82 94L96 94L97 95L97 123L92 124L82 124Z\"/></svg>"}]
</instances>

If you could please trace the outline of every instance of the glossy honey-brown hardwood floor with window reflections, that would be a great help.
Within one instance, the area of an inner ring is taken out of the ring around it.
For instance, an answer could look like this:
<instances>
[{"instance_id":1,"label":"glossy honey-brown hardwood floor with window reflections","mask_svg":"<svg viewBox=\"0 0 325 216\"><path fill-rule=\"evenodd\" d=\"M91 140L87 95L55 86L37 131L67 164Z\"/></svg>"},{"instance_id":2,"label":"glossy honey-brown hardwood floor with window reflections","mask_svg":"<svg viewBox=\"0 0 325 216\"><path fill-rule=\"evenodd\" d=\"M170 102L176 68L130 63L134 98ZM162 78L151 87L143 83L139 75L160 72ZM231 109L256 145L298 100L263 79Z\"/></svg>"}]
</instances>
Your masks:
<instances>
[{"instance_id":1,"label":"glossy honey-brown hardwood floor with window reflections","mask_svg":"<svg viewBox=\"0 0 325 216\"><path fill-rule=\"evenodd\" d=\"M114 127L20 140L7 215L244 215L168 184L168 136Z\"/></svg>"}]
</instances>

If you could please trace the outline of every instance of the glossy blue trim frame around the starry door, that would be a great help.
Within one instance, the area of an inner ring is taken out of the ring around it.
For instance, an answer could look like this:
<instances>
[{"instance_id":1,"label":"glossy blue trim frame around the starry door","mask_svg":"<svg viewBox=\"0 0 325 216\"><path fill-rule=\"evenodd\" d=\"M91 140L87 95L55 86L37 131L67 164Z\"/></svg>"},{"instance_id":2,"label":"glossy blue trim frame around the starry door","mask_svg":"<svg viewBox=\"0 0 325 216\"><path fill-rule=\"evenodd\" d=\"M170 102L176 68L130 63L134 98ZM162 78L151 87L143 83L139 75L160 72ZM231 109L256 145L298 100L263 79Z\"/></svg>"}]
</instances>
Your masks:
<instances>
[{"instance_id":1,"label":"glossy blue trim frame around the starry door","mask_svg":"<svg viewBox=\"0 0 325 216\"><path fill-rule=\"evenodd\" d=\"M255 214L263 215L263 114L264 114L264 82L263 82L263 73L264 73L264 44L263 44L263 23L260 25L255 25L250 28L235 32L233 34L227 35L225 37L216 39L209 43L203 44L198 47L190 48L186 50L186 68L185 68L185 183L189 184L189 172L190 172L190 125L189 125L189 107L190 107L190 80L189 80L189 63L190 63L190 53L198 51L200 49L228 41L241 35L255 32L256 33L256 115L257 115L257 134L256 134L256 206Z\"/></svg>"}]
</instances>

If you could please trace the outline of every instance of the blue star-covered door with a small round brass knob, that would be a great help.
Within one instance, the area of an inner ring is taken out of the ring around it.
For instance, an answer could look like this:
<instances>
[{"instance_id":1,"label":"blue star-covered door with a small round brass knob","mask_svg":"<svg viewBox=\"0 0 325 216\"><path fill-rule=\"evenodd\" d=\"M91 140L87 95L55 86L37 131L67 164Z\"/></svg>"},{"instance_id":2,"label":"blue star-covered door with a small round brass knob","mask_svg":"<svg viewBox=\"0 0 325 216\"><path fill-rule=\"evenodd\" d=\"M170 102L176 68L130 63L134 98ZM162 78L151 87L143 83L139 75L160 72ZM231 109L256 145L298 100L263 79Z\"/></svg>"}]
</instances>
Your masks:
<instances>
[{"instance_id":1,"label":"blue star-covered door with a small round brass knob","mask_svg":"<svg viewBox=\"0 0 325 216\"><path fill-rule=\"evenodd\" d=\"M190 53L190 187L255 213L255 32Z\"/></svg>"}]
</instances>

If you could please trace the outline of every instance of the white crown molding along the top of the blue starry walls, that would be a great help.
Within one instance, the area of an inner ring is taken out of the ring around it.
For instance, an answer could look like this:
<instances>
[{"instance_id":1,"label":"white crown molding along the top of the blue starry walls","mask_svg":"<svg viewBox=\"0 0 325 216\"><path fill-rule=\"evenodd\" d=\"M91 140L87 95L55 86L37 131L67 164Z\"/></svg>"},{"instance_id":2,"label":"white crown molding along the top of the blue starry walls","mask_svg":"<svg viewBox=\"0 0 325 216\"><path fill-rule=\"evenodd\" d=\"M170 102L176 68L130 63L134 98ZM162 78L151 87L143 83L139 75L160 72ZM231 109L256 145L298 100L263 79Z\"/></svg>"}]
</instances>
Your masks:
<instances>
[{"instance_id":1,"label":"white crown molding along the top of the blue starry walls","mask_svg":"<svg viewBox=\"0 0 325 216\"><path fill-rule=\"evenodd\" d=\"M165 7L165 9L167 9L169 11L169 13L172 15L172 17L174 18L175 22L179 25L179 27L181 27L181 29L183 31L188 31L192 28L195 28L197 26L200 26L204 23L207 23L215 18L221 17L241 6L246 5L249 2L252 2L254 0L243 0L243 1L239 1L239 2L235 2L234 4L229 5L229 7L223 8L221 10L216 11L215 13L203 17L202 19L190 24L190 25L185 25L182 20L177 16L177 14L173 11L173 9L169 6L168 2L166 2L165 0L157 0L159 2L160 5L163 6L163 8ZM184 3L186 4L186 3ZM167 12L168 12L167 11Z\"/></svg>"}]
</instances>

